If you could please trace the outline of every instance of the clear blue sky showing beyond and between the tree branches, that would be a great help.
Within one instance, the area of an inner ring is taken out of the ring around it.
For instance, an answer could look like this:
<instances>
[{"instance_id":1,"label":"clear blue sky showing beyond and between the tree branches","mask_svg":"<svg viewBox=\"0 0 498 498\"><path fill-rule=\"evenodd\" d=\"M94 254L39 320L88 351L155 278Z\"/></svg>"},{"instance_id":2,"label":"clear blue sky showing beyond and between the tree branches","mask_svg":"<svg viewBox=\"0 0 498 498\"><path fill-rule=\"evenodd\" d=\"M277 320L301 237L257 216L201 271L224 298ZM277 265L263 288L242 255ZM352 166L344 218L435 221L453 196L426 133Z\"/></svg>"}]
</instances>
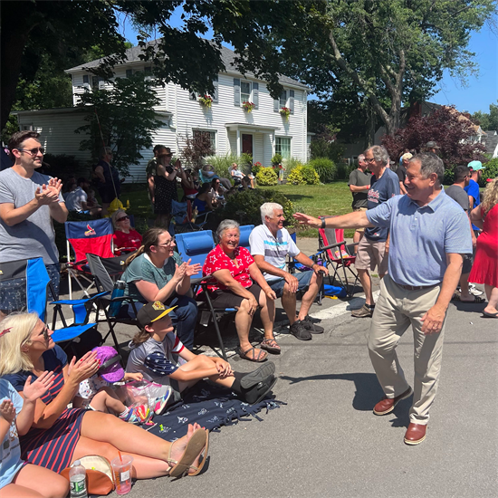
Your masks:
<instances>
[{"instance_id":1,"label":"clear blue sky showing beyond and between the tree branches","mask_svg":"<svg viewBox=\"0 0 498 498\"><path fill-rule=\"evenodd\" d=\"M180 10L171 16L171 24L181 24ZM121 22L122 34L129 42L136 44L137 37L133 26L126 20ZM467 78L466 85L452 78L445 72L442 81L436 86L437 93L429 99L438 104L454 104L457 110L474 113L476 110L489 112L490 104L498 101L498 34L493 33L488 25L472 35L468 50L475 53L475 62L479 66L478 74Z\"/></svg>"}]
</instances>

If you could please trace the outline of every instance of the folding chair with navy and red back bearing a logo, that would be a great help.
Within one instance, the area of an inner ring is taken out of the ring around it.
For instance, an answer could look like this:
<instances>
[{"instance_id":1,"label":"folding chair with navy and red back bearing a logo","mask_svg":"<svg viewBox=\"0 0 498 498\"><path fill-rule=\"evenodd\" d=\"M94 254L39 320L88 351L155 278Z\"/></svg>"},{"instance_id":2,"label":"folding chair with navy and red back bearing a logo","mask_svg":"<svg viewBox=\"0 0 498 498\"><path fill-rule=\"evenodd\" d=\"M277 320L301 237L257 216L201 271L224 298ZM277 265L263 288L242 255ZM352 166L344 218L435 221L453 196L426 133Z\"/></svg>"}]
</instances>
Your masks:
<instances>
[{"instance_id":1,"label":"folding chair with navy and red back bearing a logo","mask_svg":"<svg viewBox=\"0 0 498 498\"><path fill-rule=\"evenodd\" d=\"M91 221L68 221L64 224L67 238L67 270L69 279L69 297L72 299L72 279L78 283L83 294L90 297L93 287L90 268L85 254L98 254L104 258L114 257L112 253L112 221L110 218ZM71 262L71 247L74 263ZM88 287L81 285L81 278Z\"/></svg>"}]
</instances>

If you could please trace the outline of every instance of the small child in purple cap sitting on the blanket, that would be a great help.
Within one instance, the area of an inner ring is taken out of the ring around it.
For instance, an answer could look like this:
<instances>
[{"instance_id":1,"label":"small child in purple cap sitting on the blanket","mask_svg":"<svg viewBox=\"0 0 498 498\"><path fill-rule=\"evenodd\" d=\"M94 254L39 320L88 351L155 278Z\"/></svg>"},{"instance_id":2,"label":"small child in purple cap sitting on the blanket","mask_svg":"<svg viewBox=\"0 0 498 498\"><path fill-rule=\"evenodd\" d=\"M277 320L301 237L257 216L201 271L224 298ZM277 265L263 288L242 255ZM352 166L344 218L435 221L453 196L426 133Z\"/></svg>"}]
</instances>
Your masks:
<instances>
[{"instance_id":1,"label":"small child in purple cap sitting on the blanket","mask_svg":"<svg viewBox=\"0 0 498 498\"><path fill-rule=\"evenodd\" d=\"M78 394L74 397L72 406L76 408L90 408L91 410L117 415L125 422L140 424L148 419L150 409L147 404L135 404L127 407L124 404L126 392L124 389L114 390L114 384L127 380L142 380L141 373L125 373L120 366L120 356L110 346L94 348L97 359L101 362L101 369L97 375L83 380L80 383ZM161 413L171 391L156 400L155 413Z\"/></svg>"}]
</instances>

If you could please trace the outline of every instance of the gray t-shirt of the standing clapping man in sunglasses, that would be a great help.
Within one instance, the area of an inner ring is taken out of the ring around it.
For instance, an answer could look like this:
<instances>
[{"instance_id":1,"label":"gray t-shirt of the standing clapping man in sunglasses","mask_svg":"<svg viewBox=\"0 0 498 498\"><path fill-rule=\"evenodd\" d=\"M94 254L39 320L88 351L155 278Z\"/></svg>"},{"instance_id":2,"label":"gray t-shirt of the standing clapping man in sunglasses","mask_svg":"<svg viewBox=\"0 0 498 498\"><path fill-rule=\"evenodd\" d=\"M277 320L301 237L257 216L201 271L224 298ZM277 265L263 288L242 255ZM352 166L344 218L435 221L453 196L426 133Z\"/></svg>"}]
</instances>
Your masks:
<instances>
[{"instance_id":1,"label":"gray t-shirt of the standing clapping man in sunglasses","mask_svg":"<svg viewBox=\"0 0 498 498\"><path fill-rule=\"evenodd\" d=\"M34 199L36 189L47 185L50 178L36 171L33 177L24 178L13 168L5 169L0 172L0 204L14 204L15 208L26 205ZM59 202L64 202L62 196ZM40 256L45 264L59 263L49 206L40 206L33 215L13 226L0 219L0 261Z\"/></svg>"}]
</instances>

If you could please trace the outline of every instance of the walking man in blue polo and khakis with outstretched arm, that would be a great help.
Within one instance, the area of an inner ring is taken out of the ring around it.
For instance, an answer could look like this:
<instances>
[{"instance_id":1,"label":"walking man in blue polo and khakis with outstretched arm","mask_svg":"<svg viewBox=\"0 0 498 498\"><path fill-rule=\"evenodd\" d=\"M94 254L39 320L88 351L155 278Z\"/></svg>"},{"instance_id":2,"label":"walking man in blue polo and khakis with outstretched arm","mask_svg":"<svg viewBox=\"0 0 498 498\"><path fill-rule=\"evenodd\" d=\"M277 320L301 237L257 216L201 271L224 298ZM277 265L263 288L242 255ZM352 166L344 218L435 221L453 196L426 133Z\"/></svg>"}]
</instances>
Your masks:
<instances>
[{"instance_id":1,"label":"walking man in blue polo and khakis with outstretched arm","mask_svg":"<svg viewBox=\"0 0 498 498\"><path fill-rule=\"evenodd\" d=\"M472 238L464 210L441 187L443 161L436 154L411 158L406 196L395 196L365 213L323 221L294 215L304 225L333 228L388 226L388 275L369 330L369 355L385 398L374 407L388 415L397 402L413 393L407 445L426 438L429 408L436 397L441 369L446 310L462 273L463 254L472 254ZM396 347L411 325L414 334L414 388L397 359Z\"/></svg>"}]
</instances>

